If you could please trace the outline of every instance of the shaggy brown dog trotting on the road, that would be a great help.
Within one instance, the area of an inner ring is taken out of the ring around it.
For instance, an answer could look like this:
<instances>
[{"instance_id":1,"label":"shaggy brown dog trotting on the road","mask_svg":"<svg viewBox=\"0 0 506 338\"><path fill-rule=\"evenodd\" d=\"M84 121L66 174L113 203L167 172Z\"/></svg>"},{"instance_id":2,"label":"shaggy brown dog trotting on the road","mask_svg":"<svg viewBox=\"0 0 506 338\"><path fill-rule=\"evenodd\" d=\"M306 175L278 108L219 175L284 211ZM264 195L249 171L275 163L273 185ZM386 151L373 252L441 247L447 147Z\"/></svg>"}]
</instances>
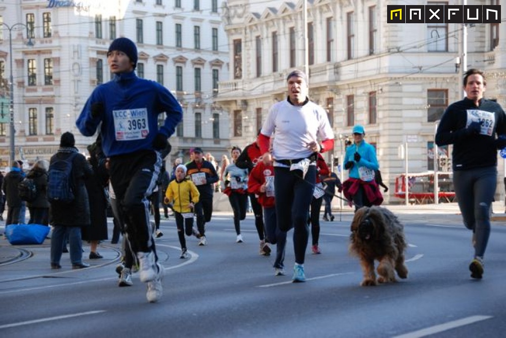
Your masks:
<instances>
[{"instance_id":1,"label":"shaggy brown dog trotting on the road","mask_svg":"<svg viewBox=\"0 0 506 338\"><path fill-rule=\"evenodd\" d=\"M406 238L404 227L390 210L382 207L362 207L351 223L350 254L360 258L364 273L362 286L397 281L408 276L404 265ZM376 282L374 260L379 262Z\"/></svg>"}]
</instances>

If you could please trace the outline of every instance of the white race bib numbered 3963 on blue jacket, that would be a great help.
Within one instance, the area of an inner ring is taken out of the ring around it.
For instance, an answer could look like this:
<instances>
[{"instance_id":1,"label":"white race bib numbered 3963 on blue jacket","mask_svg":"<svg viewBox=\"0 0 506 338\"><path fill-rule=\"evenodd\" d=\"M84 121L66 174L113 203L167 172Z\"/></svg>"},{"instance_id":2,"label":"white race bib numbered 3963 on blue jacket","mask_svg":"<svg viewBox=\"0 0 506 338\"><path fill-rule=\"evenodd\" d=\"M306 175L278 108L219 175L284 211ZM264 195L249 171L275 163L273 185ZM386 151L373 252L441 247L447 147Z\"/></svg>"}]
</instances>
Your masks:
<instances>
[{"instance_id":1,"label":"white race bib numbered 3963 on blue jacket","mask_svg":"<svg viewBox=\"0 0 506 338\"><path fill-rule=\"evenodd\" d=\"M146 108L113 110L116 141L144 139L149 134Z\"/></svg>"}]
</instances>

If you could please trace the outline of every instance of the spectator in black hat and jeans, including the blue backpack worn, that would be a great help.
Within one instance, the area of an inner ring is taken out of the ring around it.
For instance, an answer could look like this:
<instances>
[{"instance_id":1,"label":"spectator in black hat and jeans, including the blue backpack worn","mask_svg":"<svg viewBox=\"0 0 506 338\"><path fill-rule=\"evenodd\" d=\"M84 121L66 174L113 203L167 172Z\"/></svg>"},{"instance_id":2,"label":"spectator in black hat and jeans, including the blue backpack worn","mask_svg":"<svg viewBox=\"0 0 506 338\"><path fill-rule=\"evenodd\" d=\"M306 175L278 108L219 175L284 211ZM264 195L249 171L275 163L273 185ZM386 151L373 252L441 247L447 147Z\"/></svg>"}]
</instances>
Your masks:
<instances>
[{"instance_id":1,"label":"spectator in black hat and jeans, including the blue backpack worn","mask_svg":"<svg viewBox=\"0 0 506 338\"><path fill-rule=\"evenodd\" d=\"M74 144L74 135L64 132L60 138L60 148L51 157L49 164L48 198L53 222L52 269L61 269L60 259L67 234L72 269L90 266L82 262L81 227L90 226L90 205L85 180L93 175L93 170Z\"/></svg>"}]
</instances>

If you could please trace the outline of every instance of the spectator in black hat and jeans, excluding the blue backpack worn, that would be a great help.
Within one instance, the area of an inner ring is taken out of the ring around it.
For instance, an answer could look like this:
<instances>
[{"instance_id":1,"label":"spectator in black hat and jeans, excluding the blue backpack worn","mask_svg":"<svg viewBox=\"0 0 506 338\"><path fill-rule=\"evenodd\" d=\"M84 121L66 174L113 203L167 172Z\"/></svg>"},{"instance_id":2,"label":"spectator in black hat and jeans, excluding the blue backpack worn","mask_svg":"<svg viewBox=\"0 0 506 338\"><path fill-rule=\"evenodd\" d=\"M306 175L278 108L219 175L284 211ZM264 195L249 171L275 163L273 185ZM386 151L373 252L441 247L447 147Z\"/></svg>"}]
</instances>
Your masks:
<instances>
[{"instance_id":1,"label":"spectator in black hat and jeans, excluding the blue backpack worn","mask_svg":"<svg viewBox=\"0 0 506 338\"><path fill-rule=\"evenodd\" d=\"M65 132L60 139L60 149L51 157L50 163L57 159L66 159L71 153L78 153L74 147L74 135ZM50 164L51 165L51 164ZM82 262L81 227L90 226L90 204L85 180L93 175L93 170L86 158L77 154L72 160L72 178L74 184L73 202L68 204L51 203L53 234L51 236L51 268L60 269L65 234L68 234L70 260L72 269L87 268L90 265Z\"/></svg>"}]
</instances>

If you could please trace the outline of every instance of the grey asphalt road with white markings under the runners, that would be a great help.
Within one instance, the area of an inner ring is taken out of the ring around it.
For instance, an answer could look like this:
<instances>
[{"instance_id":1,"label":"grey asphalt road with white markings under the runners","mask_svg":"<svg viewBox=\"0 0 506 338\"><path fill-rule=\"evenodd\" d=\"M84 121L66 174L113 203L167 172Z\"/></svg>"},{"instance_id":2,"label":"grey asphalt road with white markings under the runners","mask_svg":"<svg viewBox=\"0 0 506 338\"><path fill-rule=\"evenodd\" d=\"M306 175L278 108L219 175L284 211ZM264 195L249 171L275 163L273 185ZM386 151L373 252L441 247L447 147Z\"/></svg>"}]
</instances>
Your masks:
<instances>
[{"instance_id":1,"label":"grey asphalt road with white markings under the runners","mask_svg":"<svg viewBox=\"0 0 506 338\"><path fill-rule=\"evenodd\" d=\"M146 286L118 287L117 246L104 243L92 268L49 267L48 241L21 247L32 255L0 265L0 336L7 337L500 337L506 314L506 228L494 223L483 280L470 278L471 233L454 213L399 213L409 242L406 280L361 287L358 260L348 254L351 213L321 223L321 255L308 247L305 283L274 276L274 256L258 254L251 215L235 243L229 215L207 226L208 246L187 238L179 259L174 222L157 239L165 267L164 295L146 301ZM5 245L4 239L1 245ZM88 254L89 248L85 248Z\"/></svg>"}]
</instances>

